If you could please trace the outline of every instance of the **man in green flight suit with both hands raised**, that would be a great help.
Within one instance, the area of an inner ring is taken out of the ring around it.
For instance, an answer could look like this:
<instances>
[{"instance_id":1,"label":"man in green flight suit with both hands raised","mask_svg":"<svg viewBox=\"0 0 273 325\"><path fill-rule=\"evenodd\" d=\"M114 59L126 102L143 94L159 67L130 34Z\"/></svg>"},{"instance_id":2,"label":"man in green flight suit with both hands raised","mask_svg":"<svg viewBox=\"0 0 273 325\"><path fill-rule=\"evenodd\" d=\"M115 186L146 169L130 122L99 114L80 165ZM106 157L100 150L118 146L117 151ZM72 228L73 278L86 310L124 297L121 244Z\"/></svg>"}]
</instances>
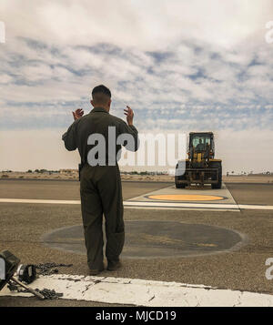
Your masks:
<instances>
[{"instance_id":1,"label":"man in green flight suit with both hands raised","mask_svg":"<svg viewBox=\"0 0 273 325\"><path fill-rule=\"evenodd\" d=\"M121 178L117 164L121 146L130 151L139 147L133 126L134 112L126 107L126 121L109 114L111 92L103 85L92 91L93 110L73 112L75 122L62 139L66 149L81 157L80 194L89 274L105 269L103 254L103 215L106 219L107 269L120 268L119 256L125 241Z\"/></svg>"}]
</instances>

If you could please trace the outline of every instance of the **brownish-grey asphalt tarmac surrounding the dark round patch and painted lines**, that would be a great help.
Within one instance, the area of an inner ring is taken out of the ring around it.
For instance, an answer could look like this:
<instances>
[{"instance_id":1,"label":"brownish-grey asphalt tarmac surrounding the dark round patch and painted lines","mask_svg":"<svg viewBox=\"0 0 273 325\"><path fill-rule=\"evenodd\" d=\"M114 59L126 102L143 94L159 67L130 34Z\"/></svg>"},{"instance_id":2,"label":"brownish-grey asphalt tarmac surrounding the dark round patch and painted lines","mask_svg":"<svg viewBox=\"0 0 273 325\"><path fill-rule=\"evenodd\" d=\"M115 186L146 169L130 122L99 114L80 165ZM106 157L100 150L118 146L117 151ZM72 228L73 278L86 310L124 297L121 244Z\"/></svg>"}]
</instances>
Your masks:
<instances>
[{"instance_id":1,"label":"brownish-grey asphalt tarmac surrounding the dark round patch and painted lines","mask_svg":"<svg viewBox=\"0 0 273 325\"><path fill-rule=\"evenodd\" d=\"M145 195L171 183L124 182L124 199ZM226 183L238 204L273 205L273 184ZM0 180L0 198L79 199L76 181ZM1 203L0 250L8 249L22 263L56 262L70 264L60 273L87 275L86 256L45 247L41 237L50 231L81 224L79 205ZM125 209L126 221L173 221L234 230L246 240L241 248L213 255L124 259L123 268L104 271L102 276L177 281L204 284L221 289L239 289L273 294L266 278L265 262L273 258L273 211ZM74 300L0 298L0 306L106 306ZM111 305L112 306L112 305Z\"/></svg>"}]
</instances>

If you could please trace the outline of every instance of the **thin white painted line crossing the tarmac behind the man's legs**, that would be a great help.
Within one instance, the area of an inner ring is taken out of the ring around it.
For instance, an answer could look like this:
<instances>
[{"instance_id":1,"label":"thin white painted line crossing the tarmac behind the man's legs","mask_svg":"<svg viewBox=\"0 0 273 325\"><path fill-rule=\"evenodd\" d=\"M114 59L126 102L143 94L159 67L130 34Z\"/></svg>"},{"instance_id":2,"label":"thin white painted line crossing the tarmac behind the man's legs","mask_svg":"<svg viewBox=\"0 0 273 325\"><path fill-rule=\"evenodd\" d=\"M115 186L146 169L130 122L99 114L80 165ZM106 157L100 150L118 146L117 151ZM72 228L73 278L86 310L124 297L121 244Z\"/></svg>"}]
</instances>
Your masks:
<instances>
[{"instance_id":1,"label":"thin white painted line crossing the tarmac behind the man's legs","mask_svg":"<svg viewBox=\"0 0 273 325\"><path fill-rule=\"evenodd\" d=\"M0 198L0 203L30 203L30 204L81 204L80 200L65 199L22 199ZM178 202L147 202L147 201L124 201L126 208L204 208L204 209L262 209L273 210L273 206L248 205L248 204L217 204L217 203L178 203Z\"/></svg>"}]
</instances>

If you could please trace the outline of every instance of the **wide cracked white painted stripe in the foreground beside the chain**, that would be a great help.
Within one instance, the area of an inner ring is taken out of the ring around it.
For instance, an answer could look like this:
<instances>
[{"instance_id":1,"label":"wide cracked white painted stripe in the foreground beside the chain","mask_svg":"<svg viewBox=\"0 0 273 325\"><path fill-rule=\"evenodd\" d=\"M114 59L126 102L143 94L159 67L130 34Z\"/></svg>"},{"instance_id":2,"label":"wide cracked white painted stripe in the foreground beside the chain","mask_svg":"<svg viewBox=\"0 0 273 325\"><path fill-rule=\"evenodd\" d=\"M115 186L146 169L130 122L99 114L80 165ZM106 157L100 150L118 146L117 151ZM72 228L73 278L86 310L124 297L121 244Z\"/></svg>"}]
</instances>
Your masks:
<instances>
[{"instance_id":1,"label":"wide cracked white painted stripe in the foreground beside the chain","mask_svg":"<svg viewBox=\"0 0 273 325\"><path fill-rule=\"evenodd\" d=\"M202 285L146 279L84 277L73 275L41 276L33 289L55 289L63 300L86 300L147 307L272 307L273 295L217 289ZM30 297L29 293L5 288L0 297Z\"/></svg>"}]
</instances>

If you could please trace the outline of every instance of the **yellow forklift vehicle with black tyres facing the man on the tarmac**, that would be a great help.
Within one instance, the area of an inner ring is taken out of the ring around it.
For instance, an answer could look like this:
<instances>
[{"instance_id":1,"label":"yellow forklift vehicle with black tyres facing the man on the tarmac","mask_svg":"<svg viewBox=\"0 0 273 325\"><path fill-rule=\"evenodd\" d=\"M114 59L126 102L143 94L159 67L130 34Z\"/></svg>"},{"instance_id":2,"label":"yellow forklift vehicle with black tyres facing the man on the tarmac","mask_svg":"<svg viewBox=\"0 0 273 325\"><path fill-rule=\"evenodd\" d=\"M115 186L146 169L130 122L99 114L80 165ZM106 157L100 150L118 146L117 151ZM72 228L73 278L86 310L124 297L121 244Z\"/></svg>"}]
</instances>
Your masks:
<instances>
[{"instance_id":1,"label":"yellow forklift vehicle with black tyres facing the man on the tarmac","mask_svg":"<svg viewBox=\"0 0 273 325\"><path fill-rule=\"evenodd\" d=\"M177 188L186 188L191 184L222 187L222 160L215 158L213 132L190 132L187 155L186 160L177 162Z\"/></svg>"}]
</instances>

